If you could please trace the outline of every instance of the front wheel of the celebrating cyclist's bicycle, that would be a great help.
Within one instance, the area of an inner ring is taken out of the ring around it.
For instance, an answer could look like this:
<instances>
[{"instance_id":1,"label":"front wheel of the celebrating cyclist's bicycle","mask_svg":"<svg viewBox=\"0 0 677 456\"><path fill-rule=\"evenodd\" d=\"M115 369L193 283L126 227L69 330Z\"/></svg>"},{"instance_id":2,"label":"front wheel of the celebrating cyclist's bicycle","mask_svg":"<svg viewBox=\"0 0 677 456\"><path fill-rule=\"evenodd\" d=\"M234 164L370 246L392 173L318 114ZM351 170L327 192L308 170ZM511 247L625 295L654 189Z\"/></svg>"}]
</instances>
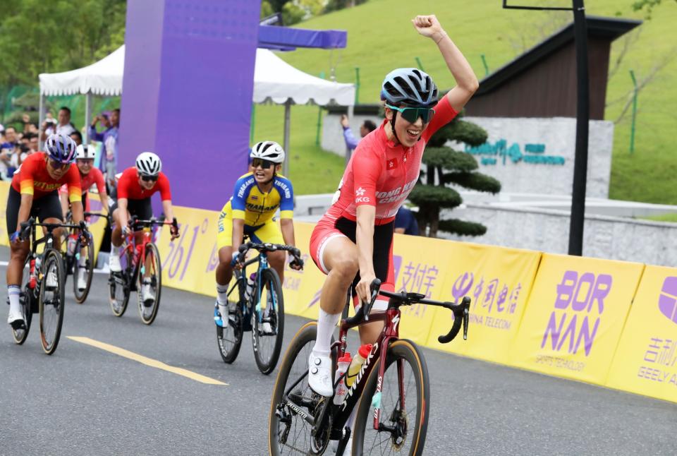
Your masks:
<instances>
[{"instance_id":1,"label":"front wheel of the celebrating cyclist's bicycle","mask_svg":"<svg viewBox=\"0 0 677 456\"><path fill-rule=\"evenodd\" d=\"M428 426L428 369L420 350L410 340L388 347L383 390L374 395L379 376L375 365L362 392L353 434L353 455L423 454ZM374 412L380 409L379 430Z\"/></svg>"}]
</instances>

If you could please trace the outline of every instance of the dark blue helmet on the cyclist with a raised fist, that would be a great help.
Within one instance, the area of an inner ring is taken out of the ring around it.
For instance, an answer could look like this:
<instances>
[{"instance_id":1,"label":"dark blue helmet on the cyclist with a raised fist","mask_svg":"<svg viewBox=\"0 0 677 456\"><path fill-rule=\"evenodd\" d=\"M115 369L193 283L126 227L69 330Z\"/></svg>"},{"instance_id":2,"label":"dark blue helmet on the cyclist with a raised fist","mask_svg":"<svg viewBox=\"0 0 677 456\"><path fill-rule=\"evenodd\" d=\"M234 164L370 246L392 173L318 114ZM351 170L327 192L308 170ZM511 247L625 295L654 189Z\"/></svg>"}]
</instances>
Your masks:
<instances>
[{"instance_id":1,"label":"dark blue helmet on the cyclist with a raised fist","mask_svg":"<svg viewBox=\"0 0 677 456\"><path fill-rule=\"evenodd\" d=\"M431 107L437 103L437 85L418 68L397 68L383 80L381 100L393 106Z\"/></svg>"}]
</instances>

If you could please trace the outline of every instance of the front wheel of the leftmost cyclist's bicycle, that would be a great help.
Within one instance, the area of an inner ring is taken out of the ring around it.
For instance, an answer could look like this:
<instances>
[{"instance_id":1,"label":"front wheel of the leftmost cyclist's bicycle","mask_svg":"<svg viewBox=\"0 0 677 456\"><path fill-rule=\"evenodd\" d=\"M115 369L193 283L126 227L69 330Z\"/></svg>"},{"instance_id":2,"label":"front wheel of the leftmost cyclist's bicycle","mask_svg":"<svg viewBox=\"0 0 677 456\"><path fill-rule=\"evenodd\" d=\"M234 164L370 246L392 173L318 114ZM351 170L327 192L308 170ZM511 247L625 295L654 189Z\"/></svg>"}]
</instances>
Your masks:
<instances>
[{"instance_id":1,"label":"front wheel of the leftmost cyclist's bicycle","mask_svg":"<svg viewBox=\"0 0 677 456\"><path fill-rule=\"evenodd\" d=\"M49 248L44 255L42 268L44 275L39 295L40 340L44 352L52 354L59 344L63 308L66 304L66 270L61 253Z\"/></svg>"}]
</instances>

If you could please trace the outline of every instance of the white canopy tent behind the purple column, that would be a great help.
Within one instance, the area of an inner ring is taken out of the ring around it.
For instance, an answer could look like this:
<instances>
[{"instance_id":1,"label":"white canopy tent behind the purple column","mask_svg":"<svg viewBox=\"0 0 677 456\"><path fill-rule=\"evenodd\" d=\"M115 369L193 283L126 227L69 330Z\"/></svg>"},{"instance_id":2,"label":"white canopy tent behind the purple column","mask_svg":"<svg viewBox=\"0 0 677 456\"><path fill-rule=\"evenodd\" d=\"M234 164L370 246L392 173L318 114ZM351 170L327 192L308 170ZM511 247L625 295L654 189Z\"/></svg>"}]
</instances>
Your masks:
<instances>
[{"instance_id":1,"label":"white canopy tent behind the purple column","mask_svg":"<svg viewBox=\"0 0 677 456\"><path fill-rule=\"evenodd\" d=\"M92 95L120 95L125 66L125 47L90 66L63 73L42 73L40 80L40 125L44 116L44 97L48 95L87 95L85 119L92 118ZM316 78L294 68L268 49L256 50L253 101L284 104L284 149L289 150L291 104L339 104L352 107L355 86ZM88 136L88 135L87 135ZM89 138L87 138L88 140ZM287 172L288 164L284 164Z\"/></svg>"}]
</instances>

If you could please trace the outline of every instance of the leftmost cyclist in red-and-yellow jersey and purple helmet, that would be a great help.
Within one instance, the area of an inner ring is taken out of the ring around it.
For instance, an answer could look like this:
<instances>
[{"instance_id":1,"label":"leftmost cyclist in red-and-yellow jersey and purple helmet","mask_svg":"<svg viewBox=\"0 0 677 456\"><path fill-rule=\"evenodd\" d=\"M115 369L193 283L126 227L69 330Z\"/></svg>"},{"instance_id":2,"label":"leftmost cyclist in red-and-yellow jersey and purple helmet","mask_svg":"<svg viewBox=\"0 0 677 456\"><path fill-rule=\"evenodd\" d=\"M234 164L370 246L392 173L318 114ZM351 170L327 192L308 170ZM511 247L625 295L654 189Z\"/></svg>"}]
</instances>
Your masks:
<instances>
[{"instance_id":1,"label":"leftmost cyclist in red-and-yellow jersey and purple helmet","mask_svg":"<svg viewBox=\"0 0 677 456\"><path fill-rule=\"evenodd\" d=\"M7 232L10 234L10 260L7 266L9 317L12 328L25 328L20 308L20 284L23 264L30 250L28 239L20 239L20 224L30 217L43 223L63 222L59 187L68 184L68 198L73 207L73 222L83 220L80 174L71 166L75 160L75 142L66 135L51 135L45 143L47 152L30 155L14 173L6 208ZM54 230L54 247L59 248L60 230ZM87 239L83 239L87 242ZM51 279L47 275L47 287ZM54 286L54 285L51 285Z\"/></svg>"}]
</instances>

